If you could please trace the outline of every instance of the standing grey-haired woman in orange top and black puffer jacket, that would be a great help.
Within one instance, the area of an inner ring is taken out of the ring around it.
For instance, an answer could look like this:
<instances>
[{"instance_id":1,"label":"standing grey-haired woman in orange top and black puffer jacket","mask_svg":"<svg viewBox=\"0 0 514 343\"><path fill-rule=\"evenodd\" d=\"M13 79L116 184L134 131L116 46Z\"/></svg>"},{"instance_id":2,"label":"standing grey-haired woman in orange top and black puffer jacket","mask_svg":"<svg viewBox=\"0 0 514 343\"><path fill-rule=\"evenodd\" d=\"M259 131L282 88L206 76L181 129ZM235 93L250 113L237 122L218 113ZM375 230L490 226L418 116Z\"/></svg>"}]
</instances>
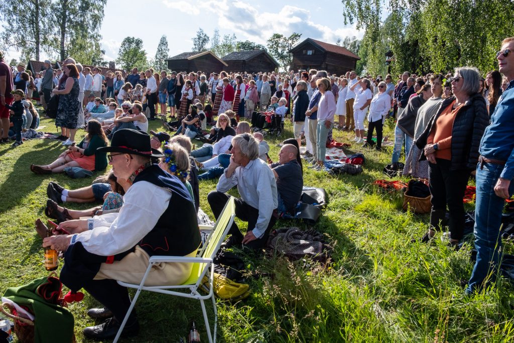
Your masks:
<instances>
[{"instance_id":1,"label":"standing grey-haired woman in orange top and black puffer jacket","mask_svg":"<svg viewBox=\"0 0 514 343\"><path fill-rule=\"evenodd\" d=\"M454 96L439 110L415 144L423 149L421 160L429 163L432 194L430 228L421 242L428 242L441 230L446 208L450 212L449 244L456 247L464 234L463 196L471 171L479 160L479 146L489 124L484 97L478 93L480 75L474 67L455 68L451 78Z\"/></svg>"}]
</instances>

